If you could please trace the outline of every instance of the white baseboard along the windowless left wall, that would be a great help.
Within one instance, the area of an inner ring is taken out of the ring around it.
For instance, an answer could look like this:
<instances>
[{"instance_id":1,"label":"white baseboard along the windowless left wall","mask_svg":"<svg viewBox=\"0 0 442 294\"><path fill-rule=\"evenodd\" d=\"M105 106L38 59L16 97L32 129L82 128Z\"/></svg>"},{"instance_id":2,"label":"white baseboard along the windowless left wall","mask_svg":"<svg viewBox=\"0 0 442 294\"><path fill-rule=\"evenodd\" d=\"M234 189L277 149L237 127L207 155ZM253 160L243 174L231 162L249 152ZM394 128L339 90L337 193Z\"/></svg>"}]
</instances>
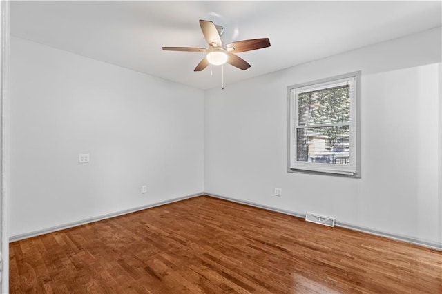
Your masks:
<instances>
[{"instance_id":1,"label":"white baseboard along the windowless left wall","mask_svg":"<svg viewBox=\"0 0 442 294\"><path fill-rule=\"evenodd\" d=\"M148 204L148 205L145 205L145 206L139 206L139 207L130 208L130 209L126 209L126 210L120 210L120 211L117 211L115 213L108 213L106 215L99 215L97 217L90 217L88 219L81 219L81 220L79 220L77 222L71 222L71 223L68 223L68 224L61 224L59 226L52 226L50 228L44 228L42 230L32 231L30 233L14 235L14 236L10 236L9 237L9 242L15 242L15 241L19 241L21 239L27 239L27 238L35 237L35 236L38 236L38 235L44 235L44 234L47 234L47 233L52 233L52 232L55 232L55 231L64 230L65 228L73 228L74 226L81 226L82 224L89 224L91 222L98 222L98 221L103 220L103 219L109 219L111 217L118 217L119 215L126 215L128 213L135 213L135 211L140 211L140 210L144 210L144 209L147 209L147 208L153 208L155 206L161 206L161 205L164 205L164 204L170 204L170 203L173 203L173 202L178 202L178 201L181 201L181 200L184 200L184 199L189 199L189 198L198 197L198 196L202 196L202 195L204 195L204 192L195 193L195 194L191 194L191 195L186 195L186 196L183 196L183 197L177 197L177 198L165 200L165 201L162 201L162 202L157 202L157 203L154 203L154 204Z\"/></svg>"}]
</instances>

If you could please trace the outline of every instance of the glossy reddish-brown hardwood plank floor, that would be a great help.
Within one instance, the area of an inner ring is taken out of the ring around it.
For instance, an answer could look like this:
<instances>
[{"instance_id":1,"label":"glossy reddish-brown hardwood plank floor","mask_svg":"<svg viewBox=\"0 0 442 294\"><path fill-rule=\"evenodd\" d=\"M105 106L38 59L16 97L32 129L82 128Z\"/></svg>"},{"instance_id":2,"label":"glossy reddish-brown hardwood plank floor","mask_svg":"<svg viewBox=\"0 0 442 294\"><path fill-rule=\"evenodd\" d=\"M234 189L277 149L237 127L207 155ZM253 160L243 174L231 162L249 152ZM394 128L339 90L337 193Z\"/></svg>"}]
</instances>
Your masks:
<instances>
[{"instance_id":1,"label":"glossy reddish-brown hardwood plank floor","mask_svg":"<svg viewBox=\"0 0 442 294\"><path fill-rule=\"evenodd\" d=\"M10 244L11 293L442 293L442 252L196 197Z\"/></svg>"}]
</instances>

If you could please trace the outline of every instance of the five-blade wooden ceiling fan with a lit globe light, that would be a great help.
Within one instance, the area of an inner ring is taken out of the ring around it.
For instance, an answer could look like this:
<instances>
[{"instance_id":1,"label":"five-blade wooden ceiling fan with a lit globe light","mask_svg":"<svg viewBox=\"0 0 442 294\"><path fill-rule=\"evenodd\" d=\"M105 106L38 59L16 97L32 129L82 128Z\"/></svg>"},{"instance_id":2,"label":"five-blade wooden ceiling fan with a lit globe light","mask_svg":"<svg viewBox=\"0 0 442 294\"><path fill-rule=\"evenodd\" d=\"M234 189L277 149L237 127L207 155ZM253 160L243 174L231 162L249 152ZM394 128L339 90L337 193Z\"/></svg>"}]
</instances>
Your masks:
<instances>
[{"instance_id":1,"label":"five-blade wooden ceiling fan with a lit globe light","mask_svg":"<svg viewBox=\"0 0 442 294\"><path fill-rule=\"evenodd\" d=\"M251 51L270 46L269 38L261 39L249 39L228 43L224 46L221 40L221 36L224 33L222 26L215 26L212 21L200 20L200 26L202 35L209 43L209 48L195 48L195 47L163 47L163 50L167 51L188 51L188 52L204 52L204 57L198 66L195 68L195 72L204 70L209 64L220 66L224 63L229 63L241 70L247 70L250 64L244 59L236 55L235 53Z\"/></svg>"}]
</instances>

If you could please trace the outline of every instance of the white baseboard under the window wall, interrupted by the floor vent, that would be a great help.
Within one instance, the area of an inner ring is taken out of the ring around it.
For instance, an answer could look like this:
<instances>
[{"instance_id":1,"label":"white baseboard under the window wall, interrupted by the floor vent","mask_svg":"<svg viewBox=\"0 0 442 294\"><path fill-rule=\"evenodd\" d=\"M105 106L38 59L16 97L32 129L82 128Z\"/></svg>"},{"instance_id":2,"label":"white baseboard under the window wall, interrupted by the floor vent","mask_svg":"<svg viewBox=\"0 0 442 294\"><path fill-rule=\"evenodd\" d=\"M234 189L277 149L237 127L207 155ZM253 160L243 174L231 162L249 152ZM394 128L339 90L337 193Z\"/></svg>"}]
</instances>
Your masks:
<instances>
[{"instance_id":1,"label":"white baseboard under the window wall, interrupted by the floor vent","mask_svg":"<svg viewBox=\"0 0 442 294\"><path fill-rule=\"evenodd\" d=\"M217 194L213 194L213 193L209 193L209 192L205 192L204 195L207 195L207 196L210 196L210 197L214 197L214 198L224 199L224 200L227 200L227 201L230 201L230 202L236 202L236 203L239 203L239 204L254 206L254 207L262 208L262 209L265 209L265 210L276 211L277 213L284 213L285 215L293 215L294 217L301 217L301 218L305 219L305 214L296 213L294 211L274 208L274 207L271 207L271 206L265 206L265 205L262 205L262 204L258 204L258 203L255 203L255 202L249 202L249 201L245 201L245 200L233 199L233 198L230 198L230 197L225 197L225 196L222 196L222 195L217 195ZM407 236L397 235L397 234L392 234L392 233L385 233L385 232L373 230L371 228L364 228L364 227L361 227L361 226L354 226L352 224L347 224L347 223L343 223L343 222L336 222L335 225L339 226L341 228L348 228L350 230L359 231L359 232L367 233L367 234L370 234L370 235L386 237L388 239L395 239L395 240L398 240L398 241L402 241L402 242L406 242L406 243L410 243L410 244L415 244L415 245L419 245L419 246L423 246L423 247L432 248L432 249L436 249L436 250L442 251L442 243L430 242L430 241L426 241L426 240L416 239L416 238L413 238L413 237L407 237Z\"/></svg>"}]
</instances>

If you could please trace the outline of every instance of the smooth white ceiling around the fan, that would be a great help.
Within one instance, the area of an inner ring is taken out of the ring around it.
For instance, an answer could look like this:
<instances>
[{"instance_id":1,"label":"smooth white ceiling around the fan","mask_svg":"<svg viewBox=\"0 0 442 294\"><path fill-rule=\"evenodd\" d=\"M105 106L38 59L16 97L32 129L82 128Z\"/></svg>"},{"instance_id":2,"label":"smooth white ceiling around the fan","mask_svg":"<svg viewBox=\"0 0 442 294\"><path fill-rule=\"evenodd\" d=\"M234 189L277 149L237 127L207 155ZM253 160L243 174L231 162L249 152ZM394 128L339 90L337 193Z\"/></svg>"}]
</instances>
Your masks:
<instances>
[{"instance_id":1,"label":"smooth white ceiling around the fan","mask_svg":"<svg viewBox=\"0 0 442 294\"><path fill-rule=\"evenodd\" d=\"M441 1L12 1L10 33L196 88L221 86L221 68L193 68L203 47L199 19L224 26L224 43L269 37L238 53L246 71L224 66L224 82L320 59L441 26Z\"/></svg>"}]
</instances>

